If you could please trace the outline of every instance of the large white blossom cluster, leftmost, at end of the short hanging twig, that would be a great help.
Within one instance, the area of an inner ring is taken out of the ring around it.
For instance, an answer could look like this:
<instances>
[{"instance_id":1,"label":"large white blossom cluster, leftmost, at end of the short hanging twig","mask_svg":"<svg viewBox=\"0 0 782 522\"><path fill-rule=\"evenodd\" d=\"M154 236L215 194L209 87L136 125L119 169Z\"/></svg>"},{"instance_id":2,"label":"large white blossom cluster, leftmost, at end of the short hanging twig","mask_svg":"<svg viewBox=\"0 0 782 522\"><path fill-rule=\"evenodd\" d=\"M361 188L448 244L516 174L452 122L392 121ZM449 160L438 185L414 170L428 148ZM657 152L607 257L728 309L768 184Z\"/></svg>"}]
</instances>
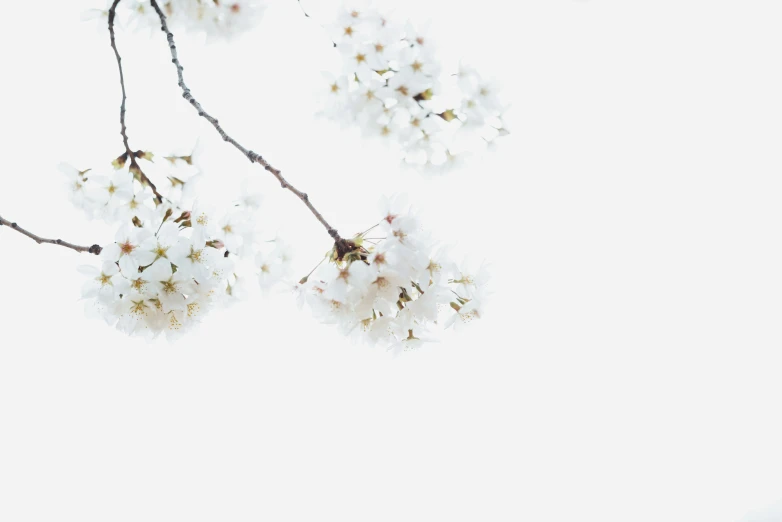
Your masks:
<instances>
[{"instance_id":1,"label":"large white blossom cluster, leftmost, at end of the short hanging twig","mask_svg":"<svg viewBox=\"0 0 782 522\"><path fill-rule=\"evenodd\" d=\"M103 246L100 266L80 268L88 278L82 292L86 309L130 335L177 337L213 307L246 295L259 251L259 196L245 186L240 200L220 216L189 201L191 182L198 177L191 172L189 178L169 176L168 197L160 202L132 167L122 169L121 158L114 162L115 172L104 176L61 166L77 206L90 217L120 223L114 242ZM191 156L166 159L187 168L192 163ZM284 250L279 239L269 243ZM277 262L277 279L267 277L267 287L287 272L289 259L286 253Z\"/></svg>"}]
</instances>

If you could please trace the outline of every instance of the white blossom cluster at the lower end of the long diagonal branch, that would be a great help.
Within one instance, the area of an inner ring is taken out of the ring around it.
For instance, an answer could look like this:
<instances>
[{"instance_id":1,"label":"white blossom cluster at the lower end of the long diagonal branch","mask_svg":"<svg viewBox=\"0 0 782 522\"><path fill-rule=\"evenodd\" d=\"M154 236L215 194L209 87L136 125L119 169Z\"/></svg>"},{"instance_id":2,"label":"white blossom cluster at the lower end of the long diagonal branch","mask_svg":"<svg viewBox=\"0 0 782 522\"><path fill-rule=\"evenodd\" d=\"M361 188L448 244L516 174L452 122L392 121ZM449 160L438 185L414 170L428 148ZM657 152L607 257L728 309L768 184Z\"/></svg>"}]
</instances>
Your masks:
<instances>
[{"instance_id":1,"label":"white blossom cluster at the lower end of the long diagonal branch","mask_svg":"<svg viewBox=\"0 0 782 522\"><path fill-rule=\"evenodd\" d=\"M324 323L392 350L433 340L435 325L460 327L483 315L485 265L459 267L435 248L404 197L384 200L383 218L337 244L297 285Z\"/></svg>"}]
</instances>

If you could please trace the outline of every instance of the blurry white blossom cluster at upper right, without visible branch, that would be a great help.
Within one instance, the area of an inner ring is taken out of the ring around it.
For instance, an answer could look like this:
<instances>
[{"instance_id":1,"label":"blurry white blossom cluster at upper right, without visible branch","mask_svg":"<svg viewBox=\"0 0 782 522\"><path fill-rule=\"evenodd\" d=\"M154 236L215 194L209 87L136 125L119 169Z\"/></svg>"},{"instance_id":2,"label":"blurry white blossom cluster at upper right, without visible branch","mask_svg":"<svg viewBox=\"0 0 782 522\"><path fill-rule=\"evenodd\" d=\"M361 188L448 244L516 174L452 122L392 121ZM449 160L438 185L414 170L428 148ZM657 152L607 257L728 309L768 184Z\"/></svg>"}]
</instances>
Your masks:
<instances>
[{"instance_id":1,"label":"blurry white blossom cluster at upper right, without visible branch","mask_svg":"<svg viewBox=\"0 0 782 522\"><path fill-rule=\"evenodd\" d=\"M326 74L322 114L391 140L406 164L446 170L508 133L497 88L463 64L443 77L425 30L363 6L342 9L329 30L343 71Z\"/></svg>"}]
</instances>

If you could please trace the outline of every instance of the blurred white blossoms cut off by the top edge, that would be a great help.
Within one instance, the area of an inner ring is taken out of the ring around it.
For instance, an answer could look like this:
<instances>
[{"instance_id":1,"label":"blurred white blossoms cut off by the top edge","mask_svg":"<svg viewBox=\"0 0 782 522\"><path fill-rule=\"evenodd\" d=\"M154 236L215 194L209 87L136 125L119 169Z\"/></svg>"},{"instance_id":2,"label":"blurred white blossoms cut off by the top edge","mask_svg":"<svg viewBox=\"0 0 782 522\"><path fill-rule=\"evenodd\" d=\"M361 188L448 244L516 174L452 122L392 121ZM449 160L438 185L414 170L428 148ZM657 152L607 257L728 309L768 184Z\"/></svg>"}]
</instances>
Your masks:
<instances>
[{"instance_id":1,"label":"blurred white blossoms cut off by the top edge","mask_svg":"<svg viewBox=\"0 0 782 522\"><path fill-rule=\"evenodd\" d=\"M104 20L113 2L103 9L85 13L87 19ZM208 38L230 38L255 27L266 9L265 0L159 0L170 25ZM150 30L160 29L160 19L149 0L120 2L119 19L123 24Z\"/></svg>"}]
</instances>

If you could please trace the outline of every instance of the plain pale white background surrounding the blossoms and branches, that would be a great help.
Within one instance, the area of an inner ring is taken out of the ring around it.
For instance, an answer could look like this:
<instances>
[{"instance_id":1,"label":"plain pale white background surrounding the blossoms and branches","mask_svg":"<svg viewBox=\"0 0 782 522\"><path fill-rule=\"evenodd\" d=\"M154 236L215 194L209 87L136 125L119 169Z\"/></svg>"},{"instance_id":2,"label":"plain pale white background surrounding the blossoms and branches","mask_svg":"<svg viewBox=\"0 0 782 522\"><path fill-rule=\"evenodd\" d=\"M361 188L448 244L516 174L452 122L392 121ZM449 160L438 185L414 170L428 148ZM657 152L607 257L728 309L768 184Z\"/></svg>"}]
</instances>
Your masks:
<instances>
[{"instance_id":1,"label":"plain pale white background surrounding the blossoms and branches","mask_svg":"<svg viewBox=\"0 0 782 522\"><path fill-rule=\"evenodd\" d=\"M407 191L492 263L490 314L393 358L282 295L146 344L84 317L92 258L0 229L0 520L781 520L782 5L395 2L513 104L497 151L424 179L313 120L333 4L279 0L231 45L178 36L190 87L345 233ZM88 5L2 6L0 215L91 244L113 232L56 170L122 152ZM320 225L198 120L162 34L118 45L131 145L201 136L226 198L260 176L306 273Z\"/></svg>"}]
</instances>

